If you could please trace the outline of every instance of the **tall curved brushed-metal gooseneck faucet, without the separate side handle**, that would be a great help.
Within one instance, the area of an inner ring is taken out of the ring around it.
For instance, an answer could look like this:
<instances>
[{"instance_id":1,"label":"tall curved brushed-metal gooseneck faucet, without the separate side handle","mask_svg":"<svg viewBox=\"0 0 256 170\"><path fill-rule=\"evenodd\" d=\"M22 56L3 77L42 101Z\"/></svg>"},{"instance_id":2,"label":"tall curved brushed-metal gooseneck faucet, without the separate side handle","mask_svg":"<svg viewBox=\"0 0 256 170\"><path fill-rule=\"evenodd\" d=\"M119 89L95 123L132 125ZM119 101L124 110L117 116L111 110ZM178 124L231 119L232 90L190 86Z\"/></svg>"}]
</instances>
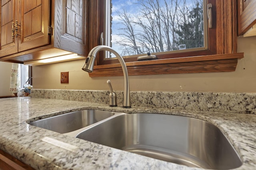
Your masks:
<instances>
[{"instance_id":1,"label":"tall curved brushed-metal gooseneck faucet, without the separate side handle","mask_svg":"<svg viewBox=\"0 0 256 170\"><path fill-rule=\"evenodd\" d=\"M121 66L122 66L122 70L124 73L124 100L123 100L123 107L124 108L131 108L131 102L130 102L130 88L129 88L129 78L128 78L128 71L126 68L126 65L124 63L124 59L111 47L108 47L106 45L98 45L96 47L94 47L88 54L88 56L86 57L86 61L84 63L84 66L82 67L82 70L86 71L86 72L92 72L93 71L93 66L94 66L94 62L96 59L96 54L99 51L109 51L111 53L113 53L118 61L120 62Z\"/></svg>"}]
</instances>

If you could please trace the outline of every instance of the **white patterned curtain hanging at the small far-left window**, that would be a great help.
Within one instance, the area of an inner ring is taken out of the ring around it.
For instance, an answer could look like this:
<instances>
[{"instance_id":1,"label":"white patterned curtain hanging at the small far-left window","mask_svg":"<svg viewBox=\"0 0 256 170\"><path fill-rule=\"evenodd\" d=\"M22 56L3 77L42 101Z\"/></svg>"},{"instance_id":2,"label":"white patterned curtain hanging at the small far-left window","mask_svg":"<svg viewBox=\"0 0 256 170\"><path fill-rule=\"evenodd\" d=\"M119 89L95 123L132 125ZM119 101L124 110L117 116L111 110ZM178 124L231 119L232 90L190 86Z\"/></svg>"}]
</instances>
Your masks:
<instances>
[{"instance_id":1,"label":"white patterned curtain hanging at the small far-left window","mask_svg":"<svg viewBox=\"0 0 256 170\"><path fill-rule=\"evenodd\" d=\"M12 63L10 92L16 93L20 88L20 64Z\"/></svg>"}]
</instances>

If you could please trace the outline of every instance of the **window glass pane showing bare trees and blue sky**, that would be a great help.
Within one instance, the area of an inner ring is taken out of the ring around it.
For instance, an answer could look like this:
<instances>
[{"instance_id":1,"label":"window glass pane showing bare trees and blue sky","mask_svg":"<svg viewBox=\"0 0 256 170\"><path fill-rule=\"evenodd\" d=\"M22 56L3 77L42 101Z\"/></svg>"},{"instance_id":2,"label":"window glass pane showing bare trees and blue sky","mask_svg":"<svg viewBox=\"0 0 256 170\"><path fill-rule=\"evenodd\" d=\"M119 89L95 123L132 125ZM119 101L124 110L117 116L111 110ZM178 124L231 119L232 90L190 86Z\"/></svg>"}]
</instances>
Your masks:
<instances>
[{"instance_id":1,"label":"window glass pane showing bare trees and blue sky","mask_svg":"<svg viewBox=\"0 0 256 170\"><path fill-rule=\"evenodd\" d=\"M203 0L109 0L104 43L122 56L207 49L205 8Z\"/></svg>"}]
</instances>

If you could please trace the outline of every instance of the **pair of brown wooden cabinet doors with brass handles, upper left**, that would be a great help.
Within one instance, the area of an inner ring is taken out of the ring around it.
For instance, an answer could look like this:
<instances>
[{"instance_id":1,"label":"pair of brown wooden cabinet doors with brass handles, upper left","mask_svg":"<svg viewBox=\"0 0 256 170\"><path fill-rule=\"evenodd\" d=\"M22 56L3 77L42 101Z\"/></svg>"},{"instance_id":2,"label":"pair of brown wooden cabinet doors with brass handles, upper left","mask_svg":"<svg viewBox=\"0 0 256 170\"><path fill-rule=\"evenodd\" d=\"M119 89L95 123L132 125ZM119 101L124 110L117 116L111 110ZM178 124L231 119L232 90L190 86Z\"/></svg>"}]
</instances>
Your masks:
<instances>
[{"instance_id":1,"label":"pair of brown wooden cabinet doors with brass handles, upper left","mask_svg":"<svg viewBox=\"0 0 256 170\"><path fill-rule=\"evenodd\" d=\"M0 57L49 44L48 0L1 1Z\"/></svg>"}]
</instances>

